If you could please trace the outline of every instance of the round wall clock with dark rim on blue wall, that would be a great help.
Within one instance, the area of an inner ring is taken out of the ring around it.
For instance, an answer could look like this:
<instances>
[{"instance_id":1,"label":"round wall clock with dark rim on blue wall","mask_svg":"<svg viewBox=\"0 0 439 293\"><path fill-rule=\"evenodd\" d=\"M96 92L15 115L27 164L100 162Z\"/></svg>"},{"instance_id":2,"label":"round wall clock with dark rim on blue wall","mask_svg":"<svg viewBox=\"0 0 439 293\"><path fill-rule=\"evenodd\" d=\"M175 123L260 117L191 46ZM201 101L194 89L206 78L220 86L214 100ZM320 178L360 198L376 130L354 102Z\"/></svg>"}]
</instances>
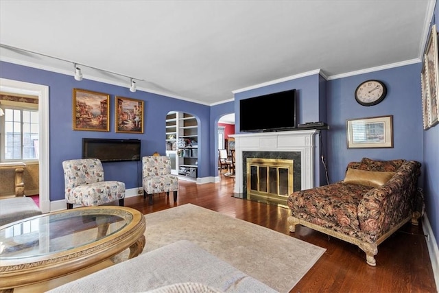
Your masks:
<instances>
[{"instance_id":1,"label":"round wall clock with dark rim on blue wall","mask_svg":"<svg viewBox=\"0 0 439 293\"><path fill-rule=\"evenodd\" d=\"M373 106L381 102L386 94L387 89L383 82L379 80L366 80L361 82L355 90L355 99L360 105Z\"/></svg>"}]
</instances>

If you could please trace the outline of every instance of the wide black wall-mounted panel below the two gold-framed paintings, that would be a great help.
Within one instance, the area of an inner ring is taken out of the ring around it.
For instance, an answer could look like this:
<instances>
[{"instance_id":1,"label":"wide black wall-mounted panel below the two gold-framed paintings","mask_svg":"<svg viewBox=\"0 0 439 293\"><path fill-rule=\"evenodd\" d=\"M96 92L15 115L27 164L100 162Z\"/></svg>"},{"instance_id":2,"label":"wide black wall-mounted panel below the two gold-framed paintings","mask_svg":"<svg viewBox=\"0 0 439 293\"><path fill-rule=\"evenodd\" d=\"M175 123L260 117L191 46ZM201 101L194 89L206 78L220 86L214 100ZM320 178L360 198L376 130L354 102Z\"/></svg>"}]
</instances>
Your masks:
<instances>
[{"instance_id":1,"label":"wide black wall-mounted panel below the two gold-framed paintings","mask_svg":"<svg viewBox=\"0 0 439 293\"><path fill-rule=\"evenodd\" d=\"M140 161L140 150L139 139L82 139L82 159Z\"/></svg>"}]
</instances>

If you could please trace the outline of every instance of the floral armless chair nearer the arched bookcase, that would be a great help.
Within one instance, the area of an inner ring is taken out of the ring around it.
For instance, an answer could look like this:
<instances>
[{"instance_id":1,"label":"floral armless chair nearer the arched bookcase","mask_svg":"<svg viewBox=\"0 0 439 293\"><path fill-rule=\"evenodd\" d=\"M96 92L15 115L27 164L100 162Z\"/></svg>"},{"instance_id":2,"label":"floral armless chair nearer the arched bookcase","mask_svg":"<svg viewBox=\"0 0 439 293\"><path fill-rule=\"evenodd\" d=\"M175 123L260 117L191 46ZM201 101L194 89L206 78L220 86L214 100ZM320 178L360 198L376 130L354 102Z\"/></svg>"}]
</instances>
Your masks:
<instances>
[{"instance_id":1,"label":"floral armless chair nearer the arched bookcase","mask_svg":"<svg viewBox=\"0 0 439 293\"><path fill-rule=\"evenodd\" d=\"M171 174L169 156L144 156L142 158L143 197L149 196L149 204L154 203L154 194L174 191L177 202L178 177Z\"/></svg>"}]
</instances>

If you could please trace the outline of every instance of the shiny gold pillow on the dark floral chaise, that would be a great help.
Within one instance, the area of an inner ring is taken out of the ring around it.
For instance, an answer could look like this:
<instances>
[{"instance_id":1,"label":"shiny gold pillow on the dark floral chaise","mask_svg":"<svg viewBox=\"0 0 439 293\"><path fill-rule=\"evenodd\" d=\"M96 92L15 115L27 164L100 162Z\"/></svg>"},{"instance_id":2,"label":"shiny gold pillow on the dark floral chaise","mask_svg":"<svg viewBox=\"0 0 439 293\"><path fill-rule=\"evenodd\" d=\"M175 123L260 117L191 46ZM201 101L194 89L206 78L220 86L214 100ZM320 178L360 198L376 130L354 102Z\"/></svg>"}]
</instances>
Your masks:
<instances>
[{"instance_id":1,"label":"shiny gold pillow on the dark floral chaise","mask_svg":"<svg viewBox=\"0 0 439 293\"><path fill-rule=\"evenodd\" d=\"M395 172L375 172L348 168L344 183L380 187L394 176Z\"/></svg>"}]
</instances>

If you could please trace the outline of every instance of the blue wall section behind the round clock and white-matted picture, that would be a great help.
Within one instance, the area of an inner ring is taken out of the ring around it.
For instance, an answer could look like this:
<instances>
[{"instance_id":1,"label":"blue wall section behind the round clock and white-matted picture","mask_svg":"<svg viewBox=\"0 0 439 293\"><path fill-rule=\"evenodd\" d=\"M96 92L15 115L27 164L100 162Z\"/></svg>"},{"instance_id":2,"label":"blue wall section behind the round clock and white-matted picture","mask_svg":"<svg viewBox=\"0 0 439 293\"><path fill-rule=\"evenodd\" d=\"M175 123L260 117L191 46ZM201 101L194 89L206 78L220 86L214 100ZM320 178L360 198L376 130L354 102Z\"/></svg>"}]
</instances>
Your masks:
<instances>
[{"instance_id":1,"label":"blue wall section behind the round clock and white-matted picture","mask_svg":"<svg viewBox=\"0 0 439 293\"><path fill-rule=\"evenodd\" d=\"M388 89L383 102L361 106L354 91L364 80L381 80ZM420 63L330 80L327 83L328 163L331 182L344 178L346 165L363 157L379 160L406 159L422 163L422 106ZM346 119L393 115L393 148L348 149Z\"/></svg>"}]
</instances>

